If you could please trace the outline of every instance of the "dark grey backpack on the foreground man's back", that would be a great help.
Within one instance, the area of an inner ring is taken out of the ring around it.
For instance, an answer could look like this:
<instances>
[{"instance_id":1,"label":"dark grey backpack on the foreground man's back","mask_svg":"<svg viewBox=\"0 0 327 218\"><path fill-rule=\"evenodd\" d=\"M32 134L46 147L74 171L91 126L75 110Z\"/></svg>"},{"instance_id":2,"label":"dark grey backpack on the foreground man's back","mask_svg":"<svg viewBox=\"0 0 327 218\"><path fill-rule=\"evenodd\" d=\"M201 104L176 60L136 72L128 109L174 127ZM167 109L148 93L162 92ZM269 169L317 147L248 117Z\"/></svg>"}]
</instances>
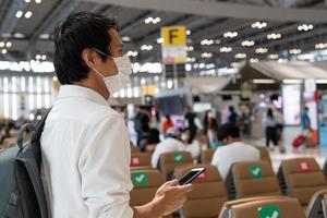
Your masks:
<instances>
[{"instance_id":1,"label":"dark grey backpack on the foreground man's back","mask_svg":"<svg viewBox=\"0 0 327 218\"><path fill-rule=\"evenodd\" d=\"M47 204L40 179L40 136L47 116L35 129L21 128L17 145L0 152L0 217L47 218ZM33 133L25 143L26 133Z\"/></svg>"}]
</instances>

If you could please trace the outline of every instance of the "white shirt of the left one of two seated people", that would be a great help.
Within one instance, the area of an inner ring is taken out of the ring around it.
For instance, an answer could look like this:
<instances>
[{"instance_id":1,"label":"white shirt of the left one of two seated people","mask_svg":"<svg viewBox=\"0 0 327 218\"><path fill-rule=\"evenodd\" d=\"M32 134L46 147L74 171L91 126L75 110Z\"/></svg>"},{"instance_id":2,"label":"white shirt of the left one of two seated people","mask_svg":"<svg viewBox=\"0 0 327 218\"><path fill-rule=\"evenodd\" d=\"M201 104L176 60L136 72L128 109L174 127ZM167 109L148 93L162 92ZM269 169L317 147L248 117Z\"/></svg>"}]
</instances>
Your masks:
<instances>
[{"instance_id":1,"label":"white shirt of the left one of two seated people","mask_svg":"<svg viewBox=\"0 0 327 218\"><path fill-rule=\"evenodd\" d=\"M183 150L186 150L186 146L182 142L172 137L165 138L156 146L155 152L152 156L153 168L157 168L160 155L166 153L183 152Z\"/></svg>"}]
</instances>

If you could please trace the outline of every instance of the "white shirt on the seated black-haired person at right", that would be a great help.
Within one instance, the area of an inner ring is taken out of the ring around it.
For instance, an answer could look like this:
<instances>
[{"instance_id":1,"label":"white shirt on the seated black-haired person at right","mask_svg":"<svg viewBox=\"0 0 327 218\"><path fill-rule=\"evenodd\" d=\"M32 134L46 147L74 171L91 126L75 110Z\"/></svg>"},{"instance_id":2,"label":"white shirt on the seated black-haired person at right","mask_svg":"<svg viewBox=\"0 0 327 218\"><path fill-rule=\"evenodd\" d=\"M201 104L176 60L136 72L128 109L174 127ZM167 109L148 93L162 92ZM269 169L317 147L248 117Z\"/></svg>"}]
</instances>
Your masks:
<instances>
[{"instance_id":1,"label":"white shirt on the seated black-haired person at right","mask_svg":"<svg viewBox=\"0 0 327 218\"><path fill-rule=\"evenodd\" d=\"M235 142L218 147L213 156L211 165L216 166L220 175L226 179L234 162L261 160L259 152L252 145Z\"/></svg>"}]
</instances>

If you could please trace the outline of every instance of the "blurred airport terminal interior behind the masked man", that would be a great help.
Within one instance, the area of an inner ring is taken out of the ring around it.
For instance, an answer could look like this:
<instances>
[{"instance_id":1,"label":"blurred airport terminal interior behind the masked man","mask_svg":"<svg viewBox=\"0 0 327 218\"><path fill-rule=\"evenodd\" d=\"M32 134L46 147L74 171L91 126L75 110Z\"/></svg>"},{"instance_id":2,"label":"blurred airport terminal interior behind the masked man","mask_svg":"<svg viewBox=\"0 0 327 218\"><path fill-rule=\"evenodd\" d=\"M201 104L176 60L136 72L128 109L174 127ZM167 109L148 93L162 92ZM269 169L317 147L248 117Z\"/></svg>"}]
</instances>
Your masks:
<instances>
[{"instance_id":1,"label":"blurred airport terminal interior behind the masked man","mask_svg":"<svg viewBox=\"0 0 327 218\"><path fill-rule=\"evenodd\" d=\"M108 99L129 132L131 206L205 168L167 217L327 217L326 0L1 0L0 180L65 86L53 29L76 12L114 17L132 63Z\"/></svg>"}]
</instances>

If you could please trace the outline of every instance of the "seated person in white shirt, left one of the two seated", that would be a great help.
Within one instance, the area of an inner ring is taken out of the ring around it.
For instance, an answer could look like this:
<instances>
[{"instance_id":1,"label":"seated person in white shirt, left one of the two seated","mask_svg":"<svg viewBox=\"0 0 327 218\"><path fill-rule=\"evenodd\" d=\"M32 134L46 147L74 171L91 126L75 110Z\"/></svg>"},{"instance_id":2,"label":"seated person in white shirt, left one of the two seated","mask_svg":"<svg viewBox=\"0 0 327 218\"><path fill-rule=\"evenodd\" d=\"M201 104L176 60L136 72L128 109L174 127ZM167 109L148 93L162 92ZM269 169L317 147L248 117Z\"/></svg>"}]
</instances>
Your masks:
<instances>
[{"instance_id":1,"label":"seated person in white shirt, left one of the two seated","mask_svg":"<svg viewBox=\"0 0 327 218\"><path fill-rule=\"evenodd\" d=\"M153 168L158 167L160 155L186 150L186 146L179 140L179 131L174 128L171 128L167 131L166 138L156 146L156 149L152 156Z\"/></svg>"}]
</instances>

